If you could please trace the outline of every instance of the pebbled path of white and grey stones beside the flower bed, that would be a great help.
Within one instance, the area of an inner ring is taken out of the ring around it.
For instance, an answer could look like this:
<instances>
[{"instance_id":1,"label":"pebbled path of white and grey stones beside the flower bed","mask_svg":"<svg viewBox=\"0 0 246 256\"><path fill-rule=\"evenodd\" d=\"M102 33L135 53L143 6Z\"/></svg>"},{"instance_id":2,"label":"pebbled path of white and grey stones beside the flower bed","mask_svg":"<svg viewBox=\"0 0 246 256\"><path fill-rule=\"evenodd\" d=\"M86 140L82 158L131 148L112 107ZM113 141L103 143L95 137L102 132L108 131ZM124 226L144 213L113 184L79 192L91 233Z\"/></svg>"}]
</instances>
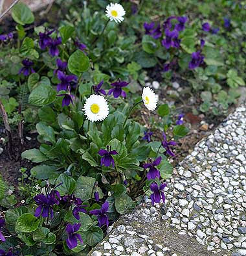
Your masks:
<instances>
[{"instance_id":1,"label":"pebbled path of white and grey stones beside the flower bed","mask_svg":"<svg viewBox=\"0 0 246 256\"><path fill-rule=\"evenodd\" d=\"M93 256L246 255L246 107L194 148L150 199L116 222Z\"/></svg>"}]
</instances>

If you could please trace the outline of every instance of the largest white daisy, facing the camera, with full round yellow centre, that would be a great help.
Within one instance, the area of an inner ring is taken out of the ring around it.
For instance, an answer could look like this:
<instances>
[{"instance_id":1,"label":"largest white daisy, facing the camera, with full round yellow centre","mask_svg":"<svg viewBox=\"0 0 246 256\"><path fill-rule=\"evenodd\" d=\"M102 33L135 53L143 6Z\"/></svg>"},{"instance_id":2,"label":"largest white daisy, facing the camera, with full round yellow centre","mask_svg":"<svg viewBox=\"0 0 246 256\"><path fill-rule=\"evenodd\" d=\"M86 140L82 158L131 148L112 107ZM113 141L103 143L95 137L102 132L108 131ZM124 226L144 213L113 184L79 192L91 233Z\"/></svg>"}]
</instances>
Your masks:
<instances>
[{"instance_id":1,"label":"largest white daisy, facing the camera, with full round yellow centre","mask_svg":"<svg viewBox=\"0 0 246 256\"><path fill-rule=\"evenodd\" d=\"M85 116L91 122L102 121L109 114L109 105L103 96L92 94L85 101Z\"/></svg>"}]
</instances>

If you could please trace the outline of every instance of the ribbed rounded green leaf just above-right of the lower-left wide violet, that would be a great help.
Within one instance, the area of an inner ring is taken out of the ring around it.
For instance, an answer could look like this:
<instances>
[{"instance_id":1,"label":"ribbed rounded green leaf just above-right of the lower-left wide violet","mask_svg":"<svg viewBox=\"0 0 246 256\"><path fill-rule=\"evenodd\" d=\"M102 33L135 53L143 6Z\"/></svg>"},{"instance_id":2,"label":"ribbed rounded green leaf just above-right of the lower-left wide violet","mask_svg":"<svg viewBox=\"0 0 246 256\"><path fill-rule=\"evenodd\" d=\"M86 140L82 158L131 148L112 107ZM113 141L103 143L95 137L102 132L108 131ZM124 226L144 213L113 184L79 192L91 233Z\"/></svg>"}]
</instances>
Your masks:
<instances>
[{"instance_id":1,"label":"ribbed rounded green leaf just above-right of the lower-left wide violet","mask_svg":"<svg viewBox=\"0 0 246 256\"><path fill-rule=\"evenodd\" d=\"M62 184L58 186L56 190L60 192L61 196L65 196L65 194L71 195L76 188L76 181L72 177L65 175L63 173L61 173L61 175L56 180L56 185L60 183Z\"/></svg>"}]
</instances>

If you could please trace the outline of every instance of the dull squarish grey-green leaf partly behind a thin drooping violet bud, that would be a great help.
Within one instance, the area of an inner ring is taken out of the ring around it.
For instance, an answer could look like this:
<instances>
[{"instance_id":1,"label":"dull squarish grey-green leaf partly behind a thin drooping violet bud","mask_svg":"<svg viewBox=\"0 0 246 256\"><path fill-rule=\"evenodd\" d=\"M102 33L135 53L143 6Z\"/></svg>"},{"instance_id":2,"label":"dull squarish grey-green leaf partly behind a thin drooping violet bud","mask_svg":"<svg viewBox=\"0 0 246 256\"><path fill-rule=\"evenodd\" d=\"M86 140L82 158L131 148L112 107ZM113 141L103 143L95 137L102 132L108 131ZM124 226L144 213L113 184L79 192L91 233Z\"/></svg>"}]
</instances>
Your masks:
<instances>
[{"instance_id":1,"label":"dull squarish grey-green leaf partly behind a thin drooping violet bud","mask_svg":"<svg viewBox=\"0 0 246 256\"><path fill-rule=\"evenodd\" d=\"M80 176L77 180L77 188L74 191L74 195L77 198L82 199L82 201L91 199L91 196L93 196L93 188L95 185L96 179L93 177L85 177ZM104 194L102 193L102 190L98 188L99 197L103 198Z\"/></svg>"}]
</instances>

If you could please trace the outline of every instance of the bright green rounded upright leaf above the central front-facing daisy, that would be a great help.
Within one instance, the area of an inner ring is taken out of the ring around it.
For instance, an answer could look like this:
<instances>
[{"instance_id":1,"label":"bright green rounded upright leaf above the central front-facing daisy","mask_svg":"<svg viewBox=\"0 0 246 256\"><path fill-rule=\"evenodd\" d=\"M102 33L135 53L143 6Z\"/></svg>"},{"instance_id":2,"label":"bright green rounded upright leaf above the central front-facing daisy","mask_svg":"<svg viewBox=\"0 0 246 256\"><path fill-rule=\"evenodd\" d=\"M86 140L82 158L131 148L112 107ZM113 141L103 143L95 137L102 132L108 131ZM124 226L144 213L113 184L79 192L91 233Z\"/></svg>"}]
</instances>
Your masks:
<instances>
[{"instance_id":1,"label":"bright green rounded upright leaf above the central front-facing daisy","mask_svg":"<svg viewBox=\"0 0 246 256\"><path fill-rule=\"evenodd\" d=\"M77 50L69 57L68 68L71 73L79 76L88 70L89 64L89 58L82 51Z\"/></svg>"}]
</instances>

